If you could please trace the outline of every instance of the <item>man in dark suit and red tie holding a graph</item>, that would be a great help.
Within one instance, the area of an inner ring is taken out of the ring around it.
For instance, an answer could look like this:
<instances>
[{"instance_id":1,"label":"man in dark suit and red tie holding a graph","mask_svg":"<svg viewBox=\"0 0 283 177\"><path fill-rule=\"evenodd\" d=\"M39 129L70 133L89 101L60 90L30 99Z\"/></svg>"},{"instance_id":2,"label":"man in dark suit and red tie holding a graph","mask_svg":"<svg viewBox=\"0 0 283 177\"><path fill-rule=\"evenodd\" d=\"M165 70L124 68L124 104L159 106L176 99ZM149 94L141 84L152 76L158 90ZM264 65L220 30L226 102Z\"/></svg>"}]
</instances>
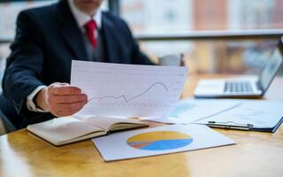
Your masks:
<instances>
[{"instance_id":1,"label":"man in dark suit and red tie holding a graph","mask_svg":"<svg viewBox=\"0 0 283 177\"><path fill-rule=\"evenodd\" d=\"M17 127L67 116L88 103L69 85L72 59L152 65L126 23L101 12L103 0L62 0L19 13L11 56L4 72L4 96L20 119Z\"/></svg>"}]
</instances>

